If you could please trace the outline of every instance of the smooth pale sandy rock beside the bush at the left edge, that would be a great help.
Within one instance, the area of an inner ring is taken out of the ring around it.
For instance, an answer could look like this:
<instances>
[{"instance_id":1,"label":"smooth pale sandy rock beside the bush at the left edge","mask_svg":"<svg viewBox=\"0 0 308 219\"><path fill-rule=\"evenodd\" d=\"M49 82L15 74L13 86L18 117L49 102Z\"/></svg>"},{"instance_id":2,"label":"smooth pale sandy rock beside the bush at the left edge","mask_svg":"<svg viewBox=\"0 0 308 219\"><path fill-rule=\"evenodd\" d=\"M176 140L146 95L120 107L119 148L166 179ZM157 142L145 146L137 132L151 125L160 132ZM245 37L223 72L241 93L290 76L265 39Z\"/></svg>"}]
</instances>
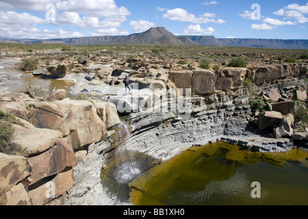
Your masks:
<instances>
[{"instance_id":1,"label":"smooth pale sandy rock beside the bush at the left edge","mask_svg":"<svg viewBox=\"0 0 308 219\"><path fill-rule=\"evenodd\" d=\"M21 150L27 156L33 156L47 151L51 146L62 140L60 131L51 129L27 129L19 125L12 125L15 129L14 143L21 146Z\"/></svg>"}]
</instances>

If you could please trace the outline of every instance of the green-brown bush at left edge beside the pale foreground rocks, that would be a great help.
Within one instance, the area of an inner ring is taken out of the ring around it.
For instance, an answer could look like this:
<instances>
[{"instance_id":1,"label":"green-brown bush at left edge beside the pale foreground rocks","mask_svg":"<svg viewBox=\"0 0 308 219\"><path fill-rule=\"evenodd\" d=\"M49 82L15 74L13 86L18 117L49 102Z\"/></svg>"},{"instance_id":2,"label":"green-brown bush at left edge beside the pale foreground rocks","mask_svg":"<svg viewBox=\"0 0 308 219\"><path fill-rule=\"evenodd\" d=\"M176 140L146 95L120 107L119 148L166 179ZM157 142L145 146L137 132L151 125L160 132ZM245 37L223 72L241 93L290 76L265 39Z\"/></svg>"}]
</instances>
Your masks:
<instances>
[{"instance_id":1,"label":"green-brown bush at left edge beside the pale foreground rocks","mask_svg":"<svg viewBox=\"0 0 308 219\"><path fill-rule=\"evenodd\" d=\"M0 110L0 153L21 153L21 148L12 140L15 129L12 123L17 123L16 117Z\"/></svg>"}]
</instances>

